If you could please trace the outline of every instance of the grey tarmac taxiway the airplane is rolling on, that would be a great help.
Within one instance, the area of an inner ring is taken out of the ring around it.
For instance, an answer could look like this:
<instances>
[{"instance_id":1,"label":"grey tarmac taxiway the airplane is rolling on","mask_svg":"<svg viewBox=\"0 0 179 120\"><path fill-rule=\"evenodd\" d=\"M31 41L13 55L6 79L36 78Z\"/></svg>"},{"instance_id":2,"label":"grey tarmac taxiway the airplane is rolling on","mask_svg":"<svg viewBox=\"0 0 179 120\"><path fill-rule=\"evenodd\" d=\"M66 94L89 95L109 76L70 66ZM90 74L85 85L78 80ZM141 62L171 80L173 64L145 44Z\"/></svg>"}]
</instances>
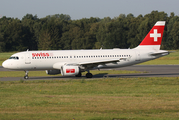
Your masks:
<instances>
[{"instance_id":1,"label":"grey tarmac taxiway the airplane is rolling on","mask_svg":"<svg viewBox=\"0 0 179 120\"><path fill-rule=\"evenodd\" d=\"M94 75L93 78L132 78L132 77L179 77L179 65L134 65L129 67L117 68L116 70L131 70L131 71L142 71L143 73L136 74L113 74L108 75L107 73L100 73ZM0 66L0 71L11 71ZM1 72L0 72L1 74ZM4 77L0 78L0 81L18 81L24 79L25 72L22 77ZM60 79L82 79L82 77L64 77L64 76L48 76L48 77L30 77L27 80L60 80ZM92 78L88 78L92 79Z\"/></svg>"}]
</instances>

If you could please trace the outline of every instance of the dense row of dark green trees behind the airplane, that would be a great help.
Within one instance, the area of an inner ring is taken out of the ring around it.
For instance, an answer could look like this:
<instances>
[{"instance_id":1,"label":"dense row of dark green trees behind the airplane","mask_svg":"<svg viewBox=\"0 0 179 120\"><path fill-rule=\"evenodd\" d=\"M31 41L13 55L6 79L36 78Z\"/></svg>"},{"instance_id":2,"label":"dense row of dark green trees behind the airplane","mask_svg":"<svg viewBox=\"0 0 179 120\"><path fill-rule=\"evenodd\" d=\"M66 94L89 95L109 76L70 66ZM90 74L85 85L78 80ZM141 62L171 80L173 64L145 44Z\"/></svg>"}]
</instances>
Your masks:
<instances>
[{"instance_id":1,"label":"dense row of dark green trees behind the airplane","mask_svg":"<svg viewBox=\"0 0 179 120\"><path fill-rule=\"evenodd\" d=\"M166 21L161 49L179 49L179 16L152 11L145 16L71 20L69 15L45 18L26 14L22 20L0 18L0 52L134 48L157 21Z\"/></svg>"}]
</instances>

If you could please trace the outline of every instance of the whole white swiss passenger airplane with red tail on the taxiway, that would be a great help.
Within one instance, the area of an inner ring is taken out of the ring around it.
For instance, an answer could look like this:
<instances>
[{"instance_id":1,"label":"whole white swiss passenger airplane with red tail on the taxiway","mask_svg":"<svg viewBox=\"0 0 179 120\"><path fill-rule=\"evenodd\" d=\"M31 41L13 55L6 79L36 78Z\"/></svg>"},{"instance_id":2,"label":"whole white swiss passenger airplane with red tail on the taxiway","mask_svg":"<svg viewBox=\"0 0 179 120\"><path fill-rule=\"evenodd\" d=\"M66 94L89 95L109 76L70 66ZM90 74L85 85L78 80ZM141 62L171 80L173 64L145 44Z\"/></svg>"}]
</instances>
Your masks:
<instances>
[{"instance_id":1,"label":"whole white swiss passenger airplane with red tail on the taxiway","mask_svg":"<svg viewBox=\"0 0 179 120\"><path fill-rule=\"evenodd\" d=\"M153 60L169 52L160 50L165 21L158 21L143 41L133 49L94 49L94 50L43 50L24 51L13 54L2 63L4 68L25 71L46 70L48 75L92 78L90 70L119 68Z\"/></svg>"}]
</instances>

